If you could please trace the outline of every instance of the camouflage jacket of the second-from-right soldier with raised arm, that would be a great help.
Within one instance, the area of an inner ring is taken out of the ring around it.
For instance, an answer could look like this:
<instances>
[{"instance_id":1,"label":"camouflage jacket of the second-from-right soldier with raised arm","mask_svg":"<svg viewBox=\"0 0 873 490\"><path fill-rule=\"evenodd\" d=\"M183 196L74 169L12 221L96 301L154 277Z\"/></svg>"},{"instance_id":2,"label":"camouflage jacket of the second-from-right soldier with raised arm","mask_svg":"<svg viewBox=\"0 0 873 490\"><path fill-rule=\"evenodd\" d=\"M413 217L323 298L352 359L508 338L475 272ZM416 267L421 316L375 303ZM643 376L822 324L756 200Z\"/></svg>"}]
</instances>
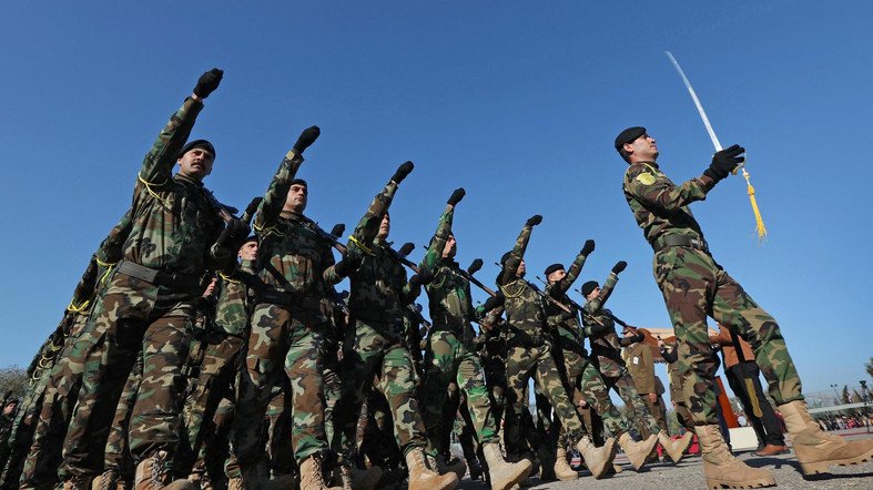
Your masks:
<instances>
[{"instance_id":1,"label":"camouflage jacket of the second-from-right soldier with raised arm","mask_svg":"<svg viewBox=\"0 0 873 490\"><path fill-rule=\"evenodd\" d=\"M587 354L585 350L585 329L579 323L580 312L573 305L573 302L570 300L570 297L567 296L567 292L570 289L570 286L572 286L572 283L579 277L579 273L582 272L586 258L587 256L582 254L577 255L576 259L570 264L570 268L567 269L567 275L564 276L561 280L546 286L546 294L549 295L549 297L570 308L570 312L572 312L567 313L556 305L546 303L546 315L548 316L546 318L547 325L562 349L573 350L582 355Z\"/></svg>"}]
</instances>

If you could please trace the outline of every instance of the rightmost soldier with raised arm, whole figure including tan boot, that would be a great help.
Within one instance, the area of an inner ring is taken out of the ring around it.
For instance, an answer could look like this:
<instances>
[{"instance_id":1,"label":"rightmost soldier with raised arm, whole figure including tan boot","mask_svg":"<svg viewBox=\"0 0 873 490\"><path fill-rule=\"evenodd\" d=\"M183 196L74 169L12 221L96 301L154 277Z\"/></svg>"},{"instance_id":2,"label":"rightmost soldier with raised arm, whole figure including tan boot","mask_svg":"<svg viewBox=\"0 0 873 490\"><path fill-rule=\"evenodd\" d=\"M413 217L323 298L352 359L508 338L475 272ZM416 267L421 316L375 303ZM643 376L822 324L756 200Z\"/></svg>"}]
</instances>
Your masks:
<instances>
[{"instance_id":1,"label":"rightmost soldier with raised arm, whole figure including tan boot","mask_svg":"<svg viewBox=\"0 0 873 490\"><path fill-rule=\"evenodd\" d=\"M603 308L603 304L609 299L612 289L618 283L618 275L627 266L628 264L625 261L618 262L612 267L602 290L595 280L589 280L582 285L581 292L586 298L585 314L582 315L586 334L591 337L591 354L596 356L596 363L606 386L618 391L619 397L625 400L625 404L641 420L644 429L650 433L649 439L653 440L652 449L654 449L656 442L660 442L667 450L670 459L679 462L686 449L688 449L688 445L691 443L690 439L672 440L667 430L658 427L654 417L649 412L646 402L642 401L642 398L637 392L633 379L631 379L625 360L621 358L621 348L642 340L642 334L619 338L616 334L616 321L612 312L609 308Z\"/></svg>"}]
</instances>

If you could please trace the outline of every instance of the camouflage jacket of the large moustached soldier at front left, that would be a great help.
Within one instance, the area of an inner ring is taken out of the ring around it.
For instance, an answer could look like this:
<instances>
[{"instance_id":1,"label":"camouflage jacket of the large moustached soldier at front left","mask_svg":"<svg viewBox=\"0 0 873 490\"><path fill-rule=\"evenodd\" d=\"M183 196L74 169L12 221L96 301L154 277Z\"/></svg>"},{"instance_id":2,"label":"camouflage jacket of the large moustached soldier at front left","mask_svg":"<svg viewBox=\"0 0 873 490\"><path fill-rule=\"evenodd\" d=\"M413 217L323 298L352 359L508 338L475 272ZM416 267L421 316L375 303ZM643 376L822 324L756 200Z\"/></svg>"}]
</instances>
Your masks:
<instances>
[{"instance_id":1,"label":"camouflage jacket of the large moustached soldier at front left","mask_svg":"<svg viewBox=\"0 0 873 490\"><path fill-rule=\"evenodd\" d=\"M215 244L224 224L212 194L201 183L172 175L201 109L201 102L185 100L145 155L123 245L125 261L185 278L159 285L158 295L168 303L193 302L202 293L197 279L206 268L230 267L236 256Z\"/></svg>"}]
</instances>

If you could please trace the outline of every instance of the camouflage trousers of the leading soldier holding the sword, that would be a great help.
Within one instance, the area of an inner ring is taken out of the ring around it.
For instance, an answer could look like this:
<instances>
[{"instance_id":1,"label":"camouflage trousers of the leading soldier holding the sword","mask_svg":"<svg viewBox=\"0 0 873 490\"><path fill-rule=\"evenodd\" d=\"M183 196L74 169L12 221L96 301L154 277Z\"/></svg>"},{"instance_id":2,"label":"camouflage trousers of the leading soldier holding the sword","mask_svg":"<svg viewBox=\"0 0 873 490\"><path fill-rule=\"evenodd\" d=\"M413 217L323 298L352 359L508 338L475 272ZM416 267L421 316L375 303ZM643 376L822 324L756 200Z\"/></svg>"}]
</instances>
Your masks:
<instances>
[{"instance_id":1,"label":"camouflage trousers of the leading soldier holding the sword","mask_svg":"<svg viewBox=\"0 0 873 490\"><path fill-rule=\"evenodd\" d=\"M718 422L708 316L751 344L778 405L803 399L779 324L709 254L668 247L654 255L653 272L676 330L680 368L690 377L684 390L694 425Z\"/></svg>"}]
</instances>

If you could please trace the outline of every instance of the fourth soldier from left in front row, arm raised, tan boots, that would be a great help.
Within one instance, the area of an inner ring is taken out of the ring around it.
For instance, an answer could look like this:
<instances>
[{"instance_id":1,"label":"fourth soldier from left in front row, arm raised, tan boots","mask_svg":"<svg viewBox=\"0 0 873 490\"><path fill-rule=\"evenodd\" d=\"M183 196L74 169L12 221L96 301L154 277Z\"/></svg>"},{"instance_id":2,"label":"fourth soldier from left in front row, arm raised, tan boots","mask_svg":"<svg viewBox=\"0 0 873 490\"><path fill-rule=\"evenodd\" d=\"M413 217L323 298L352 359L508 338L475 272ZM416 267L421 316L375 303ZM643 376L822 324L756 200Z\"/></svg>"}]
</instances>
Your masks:
<instances>
[{"instance_id":1,"label":"fourth soldier from left in front row, arm raised, tan boots","mask_svg":"<svg viewBox=\"0 0 873 490\"><path fill-rule=\"evenodd\" d=\"M433 275L425 286L433 328L425 355L425 427L432 441L444 441L451 431L446 427L444 414L448 386L455 381L464 392L476 438L483 447L488 465L489 481L494 490L508 490L530 474L530 461L508 463L500 451L497 420L494 418L481 363L474 346L470 321L476 319L470 295L470 282L455 262L457 242L451 233L455 207L464 197L463 188L448 198L446 210L439 218L436 233L427 247L427 254L418 266L419 270ZM449 412L455 415L455 410ZM454 420L450 417L448 420ZM447 447L437 447L441 455Z\"/></svg>"}]
</instances>

